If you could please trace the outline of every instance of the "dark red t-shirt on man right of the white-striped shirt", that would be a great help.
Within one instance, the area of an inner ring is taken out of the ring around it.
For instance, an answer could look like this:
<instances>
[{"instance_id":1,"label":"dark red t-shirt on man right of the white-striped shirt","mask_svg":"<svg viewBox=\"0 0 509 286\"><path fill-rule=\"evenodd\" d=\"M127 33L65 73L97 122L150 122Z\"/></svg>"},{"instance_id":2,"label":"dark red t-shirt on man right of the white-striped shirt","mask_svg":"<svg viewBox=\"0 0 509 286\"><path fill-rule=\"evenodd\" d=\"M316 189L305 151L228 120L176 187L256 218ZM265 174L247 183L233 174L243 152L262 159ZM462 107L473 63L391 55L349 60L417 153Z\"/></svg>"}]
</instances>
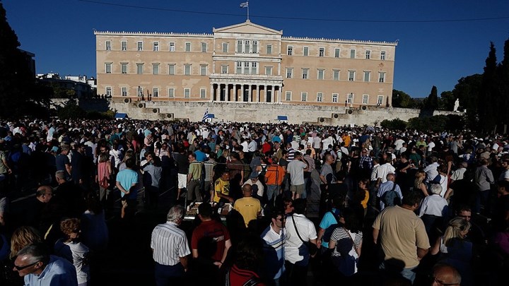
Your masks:
<instances>
[{"instance_id":1,"label":"dark red t-shirt on man right of the white-striped shirt","mask_svg":"<svg viewBox=\"0 0 509 286\"><path fill-rule=\"evenodd\" d=\"M202 239L203 241L201 242ZM211 258L213 261L221 261L223 252L226 249L225 242L227 240L230 240L230 233L225 225L217 220L208 220L201 222L201 224L194 229L191 237L191 248L198 249L198 255L203 255L204 251L209 249L201 249L201 246L206 246L208 243L215 243L217 246L216 252L212 254Z\"/></svg>"}]
</instances>

